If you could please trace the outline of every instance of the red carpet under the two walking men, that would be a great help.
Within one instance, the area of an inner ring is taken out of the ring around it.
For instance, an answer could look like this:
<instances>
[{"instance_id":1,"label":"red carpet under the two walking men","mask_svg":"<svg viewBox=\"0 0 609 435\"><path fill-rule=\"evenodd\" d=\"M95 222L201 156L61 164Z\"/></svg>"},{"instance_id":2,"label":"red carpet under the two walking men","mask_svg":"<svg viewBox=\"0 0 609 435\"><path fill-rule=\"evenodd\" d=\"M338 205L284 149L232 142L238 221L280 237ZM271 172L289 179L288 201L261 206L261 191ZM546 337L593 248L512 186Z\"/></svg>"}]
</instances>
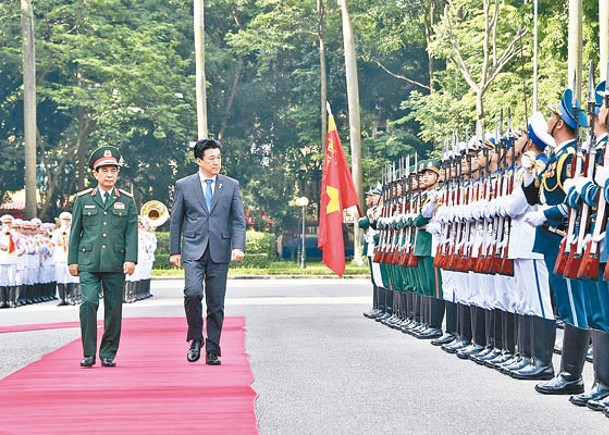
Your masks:
<instances>
[{"instance_id":1,"label":"red carpet under the two walking men","mask_svg":"<svg viewBox=\"0 0 609 435\"><path fill-rule=\"evenodd\" d=\"M221 366L187 362L185 333L124 319L115 368L81 368L80 340L45 355L0 380L0 433L257 434L245 319L225 319Z\"/></svg>"}]
</instances>

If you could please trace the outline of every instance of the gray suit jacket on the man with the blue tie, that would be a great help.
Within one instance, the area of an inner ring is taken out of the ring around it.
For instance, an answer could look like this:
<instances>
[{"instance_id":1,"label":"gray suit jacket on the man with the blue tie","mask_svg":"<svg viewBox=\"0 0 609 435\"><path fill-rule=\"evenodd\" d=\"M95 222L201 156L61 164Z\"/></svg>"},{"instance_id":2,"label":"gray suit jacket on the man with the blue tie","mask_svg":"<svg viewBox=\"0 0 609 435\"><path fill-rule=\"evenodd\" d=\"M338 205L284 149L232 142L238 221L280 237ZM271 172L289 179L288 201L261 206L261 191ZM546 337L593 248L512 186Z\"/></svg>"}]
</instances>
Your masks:
<instances>
[{"instance_id":1,"label":"gray suit jacket on the man with the blue tie","mask_svg":"<svg viewBox=\"0 0 609 435\"><path fill-rule=\"evenodd\" d=\"M208 210L199 174L178 180L169 231L171 255L198 260L209 248L215 263L229 263L232 249L245 250L245 213L239 182L218 174Z\"/></svg>"}]
</instances>

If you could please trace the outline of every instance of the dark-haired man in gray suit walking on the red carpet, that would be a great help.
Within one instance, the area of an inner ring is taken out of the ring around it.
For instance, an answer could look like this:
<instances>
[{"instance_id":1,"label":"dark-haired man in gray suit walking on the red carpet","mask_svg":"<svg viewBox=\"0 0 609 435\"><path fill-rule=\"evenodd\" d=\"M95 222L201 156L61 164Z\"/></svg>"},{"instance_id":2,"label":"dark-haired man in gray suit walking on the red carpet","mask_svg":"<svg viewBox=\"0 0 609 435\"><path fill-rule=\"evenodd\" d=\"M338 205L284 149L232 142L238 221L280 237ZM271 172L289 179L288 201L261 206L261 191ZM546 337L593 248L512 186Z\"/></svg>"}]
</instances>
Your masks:
<instances>
[{"instance_id":1,"label":"dark-haired man in gray suit walking on the red carpet","mask_svg":"<svg viewBox=\"0 0 609 435\"><path fill-rule=\"evenodd\" d=\"M196 174L177 181L170 225L170 261L185 271L184 309L188 321L187 359L200 357L203 340L203 288L207 304L206 364L220 365L220 334L230 261L245 256L245 213L239 182L220 175L220 143L199 140ZM203 287L203 283L205 286Z\"/></svg>"}]
</instances>

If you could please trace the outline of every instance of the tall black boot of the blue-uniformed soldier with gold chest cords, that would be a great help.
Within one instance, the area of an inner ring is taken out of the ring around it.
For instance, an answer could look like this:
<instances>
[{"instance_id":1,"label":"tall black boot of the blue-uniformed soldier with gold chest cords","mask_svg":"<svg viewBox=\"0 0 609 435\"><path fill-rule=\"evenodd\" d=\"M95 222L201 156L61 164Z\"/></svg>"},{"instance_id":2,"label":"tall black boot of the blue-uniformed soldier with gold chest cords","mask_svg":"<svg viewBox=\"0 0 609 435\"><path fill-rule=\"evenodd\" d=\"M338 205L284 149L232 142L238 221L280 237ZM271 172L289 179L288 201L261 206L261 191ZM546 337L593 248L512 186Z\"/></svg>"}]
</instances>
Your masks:
<instances>
[{"instance_id":1,"label":"tall black boot of the blue-uniformed soldier with gold chest cords","mask_svg":"<svg viewBox=\"0 0 609 435\"><path fill-rule=\"evenodd\" d=\"M563 353L560 361L560 373L548 382L535 385L535 391L541 394L581 394L584 392L584 381L581 377L586 352L590 343L590 330L565 324Z\"/></svg>"}]
</instances>

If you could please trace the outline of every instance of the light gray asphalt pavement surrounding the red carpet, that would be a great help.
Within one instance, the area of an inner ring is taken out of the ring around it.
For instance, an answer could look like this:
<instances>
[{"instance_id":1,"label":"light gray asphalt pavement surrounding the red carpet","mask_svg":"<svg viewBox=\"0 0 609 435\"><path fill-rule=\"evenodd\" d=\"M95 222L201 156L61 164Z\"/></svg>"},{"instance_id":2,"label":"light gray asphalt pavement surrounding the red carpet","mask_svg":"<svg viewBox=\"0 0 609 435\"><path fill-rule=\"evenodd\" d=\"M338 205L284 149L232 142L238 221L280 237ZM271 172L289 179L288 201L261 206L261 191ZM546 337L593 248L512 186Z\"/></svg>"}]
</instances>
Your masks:
<instances>
[{"instance_id":1,"label":"light gray asphalt pavement surrounding the red carpet","mask_svg":"<svg viewBox=\"0 0 609 435\"><path fill-rule=\"evenodd\" d=\"M181 281L152 289L124 315L183 315ZM365 319L370 293L367 280L229 281L226 314L246 317L261 434L609 433L608 418L534 382ZM76 307L54 303L0 311L0 326L77 319ZM0 334L0 378L75 338L75 328Z\"/></svg>"}]
</instances>

